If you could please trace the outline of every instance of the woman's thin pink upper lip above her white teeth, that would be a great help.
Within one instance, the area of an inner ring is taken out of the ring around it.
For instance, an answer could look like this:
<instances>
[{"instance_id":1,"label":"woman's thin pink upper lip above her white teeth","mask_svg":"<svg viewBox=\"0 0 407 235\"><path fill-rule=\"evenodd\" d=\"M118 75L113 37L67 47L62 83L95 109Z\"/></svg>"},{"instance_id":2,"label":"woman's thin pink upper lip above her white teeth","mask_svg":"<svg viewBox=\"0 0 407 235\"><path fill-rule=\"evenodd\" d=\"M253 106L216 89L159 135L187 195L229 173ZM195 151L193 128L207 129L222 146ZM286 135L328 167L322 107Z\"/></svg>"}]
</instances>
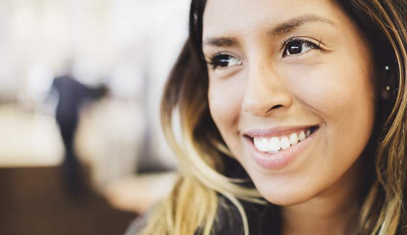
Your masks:
<instances>
[{"instance_id":1,"label":"woman's thin pink upper lip above her white teeth","mask_svg":"<svg viewBox=\"0 0 407 235\"><path fill-rule=\"evenodd\" d=\"M281 135L288 135L294 132L299 132L306 130L310 127L316 127L318 125L304 125L304 126L284 126L284 127L275 127L271 129L254 129L247 132L244 132L243 135L254 137L274 137Z\"/></svg>"}]
</instances>

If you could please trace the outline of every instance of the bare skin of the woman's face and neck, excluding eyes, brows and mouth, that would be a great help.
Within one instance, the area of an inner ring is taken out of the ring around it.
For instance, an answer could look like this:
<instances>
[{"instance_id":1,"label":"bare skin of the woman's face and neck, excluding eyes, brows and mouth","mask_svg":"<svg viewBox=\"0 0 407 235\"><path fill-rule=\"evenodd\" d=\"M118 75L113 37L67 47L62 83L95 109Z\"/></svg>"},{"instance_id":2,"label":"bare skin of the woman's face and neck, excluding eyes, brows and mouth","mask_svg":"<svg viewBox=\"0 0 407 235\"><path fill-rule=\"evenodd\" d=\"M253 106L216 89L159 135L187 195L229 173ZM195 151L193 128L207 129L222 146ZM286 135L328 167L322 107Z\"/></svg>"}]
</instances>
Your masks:
<instances>
[{"instance_id":1,"label":"bare skin of the woman's face and neck, excluding eyes, brows and mouth","mask_svg":"<svg viewBox=\"0 0 407 235\"><path fill-rule=\"evenodd\" d=\"M270 33L311 14L324 20ZM291 37L321 49L284 55ZM235 43L214 45L218 38ZM209 65L211 115L260 194L282 206L283 234L355 233L375 95L370 46L352 20L332 1L209 0L202 50L208 62L232 56L227 66ZM303 125L319 130L293 162L270 170L252 159L245 132Z\"/></svg>"}]
</instances>

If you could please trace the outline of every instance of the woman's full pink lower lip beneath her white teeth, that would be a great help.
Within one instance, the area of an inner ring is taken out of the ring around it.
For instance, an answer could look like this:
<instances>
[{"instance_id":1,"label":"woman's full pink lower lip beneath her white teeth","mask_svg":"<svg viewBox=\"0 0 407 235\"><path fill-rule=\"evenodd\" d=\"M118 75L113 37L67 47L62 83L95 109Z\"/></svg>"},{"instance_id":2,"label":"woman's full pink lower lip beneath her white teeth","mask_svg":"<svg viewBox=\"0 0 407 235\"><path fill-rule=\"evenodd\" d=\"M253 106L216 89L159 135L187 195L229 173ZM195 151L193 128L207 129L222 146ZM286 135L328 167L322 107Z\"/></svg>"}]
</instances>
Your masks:
<instances>
[{"instance_id":1,"label":"woman's full pink lower lip beneath her white teeth","mask_svg":"<svg viewBox=\"0 0 407 235\"><path fill-rule=\"evenodd\" d=\"M252 139L247 139L250 149L251 156L253 160L264 169L268 170L278 170L287 166L290 162L294 161L300 155L305 148L311 143L314 139L316 133L319 131L317 128L310 136L308 136L303 141L296 143L293 146L290 146L286 150L280 150L280 152L275 154L269 154L267 152L261 152L256 149Z\"/></svg>"}]
</instances>

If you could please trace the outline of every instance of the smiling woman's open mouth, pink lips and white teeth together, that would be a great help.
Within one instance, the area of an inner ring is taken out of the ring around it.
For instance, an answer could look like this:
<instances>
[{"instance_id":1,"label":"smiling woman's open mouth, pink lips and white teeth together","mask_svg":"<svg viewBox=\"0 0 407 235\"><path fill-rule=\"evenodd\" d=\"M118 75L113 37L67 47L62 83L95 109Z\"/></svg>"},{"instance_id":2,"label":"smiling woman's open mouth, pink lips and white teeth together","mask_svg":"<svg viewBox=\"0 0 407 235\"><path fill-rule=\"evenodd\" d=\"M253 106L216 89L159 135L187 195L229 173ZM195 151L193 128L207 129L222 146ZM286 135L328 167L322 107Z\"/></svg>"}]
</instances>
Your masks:
<instances>
[{"instance_id":1,"label":"smiling woman's open mouth, pink lips and white teeth together","mask_svg":"<svg viewBox=\"0 0 407 235\"><path fill-rule=\"evenodd\" d=\"M253 131L243 136L255 162L262 168L281 169L309 145L319 126Z\"/></svg>"}]
</instances>

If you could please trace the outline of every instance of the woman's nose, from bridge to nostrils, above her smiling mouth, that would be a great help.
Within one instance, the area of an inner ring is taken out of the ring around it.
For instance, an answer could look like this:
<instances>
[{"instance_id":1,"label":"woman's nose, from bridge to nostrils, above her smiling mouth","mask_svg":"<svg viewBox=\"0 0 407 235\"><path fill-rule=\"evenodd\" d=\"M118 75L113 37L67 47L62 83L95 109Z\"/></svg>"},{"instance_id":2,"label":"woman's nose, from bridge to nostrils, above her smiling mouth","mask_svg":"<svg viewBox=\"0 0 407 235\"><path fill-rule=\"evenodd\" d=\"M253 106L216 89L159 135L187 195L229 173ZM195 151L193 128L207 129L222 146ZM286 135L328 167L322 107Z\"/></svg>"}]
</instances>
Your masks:
<instances>
[{"instance_id":1,"label":"woman's nose, from bridge to nostrils, above her smiling mouth","mask_svg":"<svg viewBox=\"0 0 407 235\"><path fill-rule=\"evenodd\" d=\"M249 69L247 86L242 102L244 111L255 116L267 116L277 109L292 105L292 96L284 80L275 70L256 65Z\"/></svg>"}]
</instances>

